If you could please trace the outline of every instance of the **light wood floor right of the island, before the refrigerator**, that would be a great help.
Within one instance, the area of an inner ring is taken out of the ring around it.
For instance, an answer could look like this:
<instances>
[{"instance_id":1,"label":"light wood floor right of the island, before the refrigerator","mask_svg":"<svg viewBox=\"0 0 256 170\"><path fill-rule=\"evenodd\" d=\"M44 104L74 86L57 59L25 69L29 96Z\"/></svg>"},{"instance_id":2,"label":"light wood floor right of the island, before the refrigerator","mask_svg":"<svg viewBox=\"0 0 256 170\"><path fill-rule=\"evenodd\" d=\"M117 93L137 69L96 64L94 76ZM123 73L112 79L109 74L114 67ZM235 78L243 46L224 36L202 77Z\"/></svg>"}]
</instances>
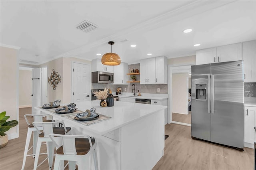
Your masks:
<instances>
[{"instance_id":1,"label":"light wood floor right of the island, before the refrigerator","mask_svg":"<svg viewBox=\"0 0 256 170\"><path fill-rule=\"evenodd\" d=\"M167 124L164 156L153 170L253 170L253 149L244 152L194 140L191 127Z\"/></svg>"}]
</instances>

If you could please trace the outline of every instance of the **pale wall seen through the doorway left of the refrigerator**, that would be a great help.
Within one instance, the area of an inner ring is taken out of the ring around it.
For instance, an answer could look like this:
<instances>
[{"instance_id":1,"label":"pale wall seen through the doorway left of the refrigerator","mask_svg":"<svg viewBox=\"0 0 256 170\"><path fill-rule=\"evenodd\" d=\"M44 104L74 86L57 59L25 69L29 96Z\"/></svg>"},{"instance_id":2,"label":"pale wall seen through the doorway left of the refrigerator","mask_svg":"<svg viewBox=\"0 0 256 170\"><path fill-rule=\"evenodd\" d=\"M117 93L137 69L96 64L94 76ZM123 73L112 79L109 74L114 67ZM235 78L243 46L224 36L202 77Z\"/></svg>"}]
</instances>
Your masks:
<instances>
[{"instance_id":1,"label":"pale wall seen through the doorway left of the refrigerator","mask_svg":"<svg viewBox=\"0 0 256 170\"><path fill-rule=\"evenodd\" d=\"M172 74L172 113L188 113L188 73Z\"/></svg>"}]
</instances>

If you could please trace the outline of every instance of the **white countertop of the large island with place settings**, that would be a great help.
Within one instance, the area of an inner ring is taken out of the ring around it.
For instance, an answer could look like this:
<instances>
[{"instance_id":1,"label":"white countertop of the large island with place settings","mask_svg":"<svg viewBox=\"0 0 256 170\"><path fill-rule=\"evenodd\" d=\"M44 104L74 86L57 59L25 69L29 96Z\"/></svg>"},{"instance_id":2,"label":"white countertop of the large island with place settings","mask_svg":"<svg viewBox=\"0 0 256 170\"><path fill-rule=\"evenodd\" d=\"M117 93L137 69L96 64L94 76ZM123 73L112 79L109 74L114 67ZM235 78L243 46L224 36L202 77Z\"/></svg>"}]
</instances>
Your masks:
<instances>
[{"instance_id":1,"label":"white countertop of the large island with place settings","mask_svg":"<svg viewBox=\"0 0 256 170\"><path fill-rule=\"evenodd\" d=\"M63 120L69 121L70 123L76 123L76 125L100 135L127 125L132 121L142 119L143 117L146 117L147 115L150 115L156 111L167 108L167 106L162 105L145 105L140 103L128 103L121 101L115 101L113 107L101 107L100 100L77 102L76 107L78 107L77 110L80 111L85 111L86 109L94 107L96 109L96 113L112 117L106 121L101 121L89 126L82 124L79 125L75 121L70 122L72 120L61 117ZM38 107L36 107L36 109L38 109ZM39 110L44 111L44 109ZM48 113L50 114L50 112Z\"/></svg>"}]
</instances>

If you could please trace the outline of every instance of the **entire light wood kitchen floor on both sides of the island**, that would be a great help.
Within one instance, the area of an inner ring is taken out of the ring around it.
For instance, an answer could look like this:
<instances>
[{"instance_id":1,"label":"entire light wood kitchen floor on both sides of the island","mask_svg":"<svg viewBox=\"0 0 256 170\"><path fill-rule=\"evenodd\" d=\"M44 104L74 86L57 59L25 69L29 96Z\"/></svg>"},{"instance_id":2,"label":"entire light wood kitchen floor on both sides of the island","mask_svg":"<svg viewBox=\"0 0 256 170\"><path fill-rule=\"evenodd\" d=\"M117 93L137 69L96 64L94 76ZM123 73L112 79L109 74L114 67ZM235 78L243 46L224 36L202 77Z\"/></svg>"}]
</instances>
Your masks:
<instances>
[{"instance_id":1,"label":"entire light wood kitchen floor on both sides of the island","mask_svg":"<svg viewBox=\"0 0 256 170\"><path fill-rule=\"evenodd\" d=\"M31 114L31 108L20 109L20 137L12 139L0 150L1 170L20 170L26 142L27 124L24 114ZM165 134L164 156L153 170L253 170L253 149L245 148L244 152L226 148L191 138L191 127L167 124ZM32 140L31 140L32 142ZM46 145L41 152L46 152ZM42 161L46 156L40 156ZM39 162L41 162L39 160ZM32 170L34 159L26 159L26 170ZM44 162L38 170L47 170ZM68 168L66 168L68 169Z\"/></svg>"}]
</instances>

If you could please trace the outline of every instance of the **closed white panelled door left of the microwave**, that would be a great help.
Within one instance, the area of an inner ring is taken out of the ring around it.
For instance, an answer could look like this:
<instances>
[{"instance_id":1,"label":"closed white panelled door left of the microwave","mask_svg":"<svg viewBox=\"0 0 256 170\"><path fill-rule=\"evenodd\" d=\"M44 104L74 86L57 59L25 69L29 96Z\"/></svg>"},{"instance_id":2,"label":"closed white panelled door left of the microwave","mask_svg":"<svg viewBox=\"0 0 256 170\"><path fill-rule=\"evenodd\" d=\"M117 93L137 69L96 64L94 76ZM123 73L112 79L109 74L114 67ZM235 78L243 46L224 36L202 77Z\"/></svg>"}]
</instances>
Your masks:
<instances>
[{"instance_id":1,"label":"closed white panelled door left of the microwave","mask_svg":"<svg viewBox=\"0 0 256 170\"><path fill-rule=\"evenodd\" d=\"M91 73L89 64L73 63L73 102L91 100Z\"/></svg>"}]
</instances>

